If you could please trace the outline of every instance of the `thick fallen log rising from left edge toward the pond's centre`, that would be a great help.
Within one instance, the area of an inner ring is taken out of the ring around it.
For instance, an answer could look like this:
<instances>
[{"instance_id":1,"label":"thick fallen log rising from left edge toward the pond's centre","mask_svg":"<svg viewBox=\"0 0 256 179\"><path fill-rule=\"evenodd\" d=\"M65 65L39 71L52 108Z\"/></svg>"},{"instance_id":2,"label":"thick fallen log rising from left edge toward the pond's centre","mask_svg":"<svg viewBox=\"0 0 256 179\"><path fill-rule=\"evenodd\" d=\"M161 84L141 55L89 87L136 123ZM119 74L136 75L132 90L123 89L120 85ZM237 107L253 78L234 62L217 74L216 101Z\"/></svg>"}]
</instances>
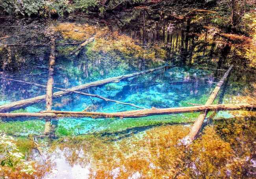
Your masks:
<instances>
[{"instance_id":1,"label":"thick fallen log rising from left edge toward the pond's centre","mask_svg":"<svg viewBox=\"0 0 256 179\"><path fill-rule=\"evenodd\" d=\"M93 82L90 82L90 83L85 83L83 85L78 85L76 87L72 87L68 90L77 91L77 90L87 89L89 87L97 87L97 86L106 85L108 83L119 83L119 81L122 81L124 79L128 79L128 78L131 78L131 77L134 77L134 76L147 74L147 73L150 73L150 72L154 72L156 70L161 70L161 69L166 68L166 67L173 67L173 66L163 65L163 66L160 66L158 68L153 68L153 69L150 69L150 70L135 72L135 73L128 74L128 75L116 76L116 77L113 77L113 78L107 78L107 79L102 79L102 80L98 80L98 81L93 81ZM58 92L54 92L52 97L57 98L57 97L60 97L60 96L71 94L71 93L73 93L73 92L71 92L71 91L58 91ZM16 110L16 109L20 109L22 107L27 107L29 105L33 105L33 104L36 104L36 103L41 103L41 102L45 101L45 98L46 98L46 95L41 95L41 96L37 96L37 97L34 97L34 98L28 98L26 100L20 100L20 101L15 101L15 102L12 102L12 103L7 103L7 104L4 104L4 105L0 105L0 112L13 111L13 110Z\"/></svg>"}]
</instances>

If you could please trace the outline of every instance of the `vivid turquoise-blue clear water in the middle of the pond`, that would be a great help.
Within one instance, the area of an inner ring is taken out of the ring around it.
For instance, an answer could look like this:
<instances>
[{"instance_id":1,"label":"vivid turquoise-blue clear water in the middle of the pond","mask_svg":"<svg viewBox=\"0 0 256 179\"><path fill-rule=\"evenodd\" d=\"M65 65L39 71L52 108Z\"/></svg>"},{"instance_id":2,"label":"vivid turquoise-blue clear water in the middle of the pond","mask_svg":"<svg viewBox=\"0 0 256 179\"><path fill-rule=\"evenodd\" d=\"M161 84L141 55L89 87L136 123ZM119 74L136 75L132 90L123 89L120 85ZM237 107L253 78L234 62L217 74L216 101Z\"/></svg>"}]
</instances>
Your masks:
<instances>
[{"instance_id":1,"label":"vivid turquoise-blue clear water in the middle of the pond","mask_svg":"<svg viewBox=\"0 0 256 179\"><path fill-rule=\"evenodd\" d=\"M62 75L65 70L61 69L67 68L66 66L72 64L73 63L71 62L65 65L56 65L56 69L59 70L56 70L54 79L56 79L55 83L58 84L54 86L61 88L70 88L76 85L91 82L95 79L99 80L114 76L111 73L106 73L97 77L93 76L93 79L88 80L88 78L85 76L83 68L80 67L72 67L71 71L78 74L75 78L73 77L74 74L69 74L68 76ZM33 70L29 71L29 69L30 68L27 68L24 71L26 71L27 74L31 74ZM117 72L115 75L130 74L137 71L138 70L127 70L126 73ZM91 73L93 74L93 72ZM95 72L97 71L95 70ZM7 73L5 73L5 75L8 78L15 78L16 76L20 76L20 74L11 75ZM47 76L47 74L45 76ZM23 81L45 84L47 82L47 78L44 78L45 76L43 76L42 78L38 78L38 75L36 75L30 76L28 78L25 74L23 78L19 79ZM105 98L110 98L126 103L134 103L135 105L145 108L179 107L184 105L182 103L183 101L187 101L190 98L201 98L204 95L208 96L211 90L215 87L215 81L216 79L214 78L212 72L208 70L172 67L158 70L143 76L134 77L127 81L110 83L102 87L89 88L84 90L84 92L98 94ZM2 103L4 103L32 98L45 94L45 89L37 86L26 84L24 85L13 81L2 80L1 94L2 96L6 96L6 99L2 100ZM26 107L25 111L38 112L44 110L44 107L45 103L35 104L30 107ZM80 94L71 94L68 96L54 99L52 109L58 111L83 111L86 108L89 109L89 111L102 111L108 113L137 109L130 105L122 105L110 101L107 102L98 98L90 98L89 96L83 96ZM23 118L20 120L26 119ZM72 122L70 122L70 120L72 120ZM84 120L86 120L86 122L84 122ZM68 129L72 129L72 127L77 128L77 125L82 125L82 127L80 127L80 133L86 133L92 129L94 131L105 129L104 121L106 121L106 125L108 125L109 122L113 122L110 120L102 119L94 120L89 118L83 118L80 120L74 120L70 118L65 118L61 120L60 124L64 123L65 127ZM76 132L78 131L78 129L73 130Z\"/></svg>"}]
</instances>

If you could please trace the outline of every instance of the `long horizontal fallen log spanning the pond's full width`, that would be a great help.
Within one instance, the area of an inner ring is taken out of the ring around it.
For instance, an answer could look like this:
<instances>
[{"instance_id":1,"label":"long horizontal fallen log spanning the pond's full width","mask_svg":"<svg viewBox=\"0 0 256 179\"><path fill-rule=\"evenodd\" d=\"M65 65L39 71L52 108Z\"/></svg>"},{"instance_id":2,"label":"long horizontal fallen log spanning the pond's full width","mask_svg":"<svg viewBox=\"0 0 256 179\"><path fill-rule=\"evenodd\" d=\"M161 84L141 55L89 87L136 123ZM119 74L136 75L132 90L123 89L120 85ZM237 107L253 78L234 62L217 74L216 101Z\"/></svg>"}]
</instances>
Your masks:
<instances>
[{"instance_id":1,"label":"long horizontal fallen log spanning the pond's full width","mask_svg":"<svg viewBox=\"0 0 256 179\"><path fill-rule=\"evenodd\" d=\"M197 113L200 111L233 111L233 110L256 110L256 104L217 104L217 105L201 105L192 107L174 107L174 108L152 108L140 109L132 111L123 111L115 113L101 113L101 112L73 112L73 111L42 111L40 113L0 113L0 117L73 117L73 118L142 118L147 116L157 116L166 114L180 114L180 113Z\"/></svg>"}]
</instances>

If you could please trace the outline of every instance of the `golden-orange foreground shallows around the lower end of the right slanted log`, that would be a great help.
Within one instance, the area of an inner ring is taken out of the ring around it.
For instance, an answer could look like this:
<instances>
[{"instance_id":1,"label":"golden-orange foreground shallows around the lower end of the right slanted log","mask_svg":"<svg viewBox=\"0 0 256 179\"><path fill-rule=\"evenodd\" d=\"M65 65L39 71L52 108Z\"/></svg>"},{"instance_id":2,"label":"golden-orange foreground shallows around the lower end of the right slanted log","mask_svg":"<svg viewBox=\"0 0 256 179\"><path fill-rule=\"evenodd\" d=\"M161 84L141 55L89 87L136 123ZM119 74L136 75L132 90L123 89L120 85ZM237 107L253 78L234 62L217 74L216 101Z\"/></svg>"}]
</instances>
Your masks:
<instances>
[{"instance_id":1,"label":"golden-orange foreground shallows around the lower end of the right slanted log","mask_svg":"<svg viewBox=\"0 0 256 179\"><path fill-rule=\"evenodd\" d=\"M94 178L127 178L136 172L143 178L171 178L174 166L180 171L178 178L241 178L245 168L250 168L246 157L253 149L254 128L251 118L214 120L214 125L206 127L189 148L180 141L189 133L190 128L184 125L154 127L144 135L121 136L117 141L115 135L68 137L54 146L71 150L65 154L70 164L86 166L90 162ZM85 156L78 157L77 150Z\"/></svg>"}]
</instances>

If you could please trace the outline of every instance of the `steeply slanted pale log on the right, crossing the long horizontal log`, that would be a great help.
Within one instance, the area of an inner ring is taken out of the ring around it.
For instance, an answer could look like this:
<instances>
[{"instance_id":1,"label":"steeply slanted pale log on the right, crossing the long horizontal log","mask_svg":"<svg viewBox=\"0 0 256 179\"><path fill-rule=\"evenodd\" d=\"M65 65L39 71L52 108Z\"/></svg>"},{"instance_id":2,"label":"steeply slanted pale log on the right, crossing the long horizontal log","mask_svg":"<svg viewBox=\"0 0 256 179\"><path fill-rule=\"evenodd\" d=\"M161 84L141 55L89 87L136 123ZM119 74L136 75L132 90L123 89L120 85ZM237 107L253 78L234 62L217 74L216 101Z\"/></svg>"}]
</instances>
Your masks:
<instances>
[{"instance_id":1,"label":"steeply slanted pale log on the right, crossing the long horizontal log","mask_svg":"<svg viewBox=\"0 0 256 179\"><path fill-rule=\"evenodd\" d=\"M213 103L213 101L215 100L219 90L221 89L221 86L223 85L225 79L228 77L228 74L230 73L230 71L232 70L233 65L231 65L228 70L226 71L226 73L224 74L224 76L221 78L221 80L219 81L219 83L217 83L217 86L215 87L215 89L213 90L213 92L211 92L210 97L208 98L208 100L206 101L205 105L211 105ZM190 141L193 141L194 138L196 137L198 131L201 128L201 125L204 122L204 119L206 118L208 114L208 110L202 112L199 114L195 124L192 126L191 131L189 133L189 135L187 136L186 140L188 141L188 143Z\"/></svg>"}]
</instances>

